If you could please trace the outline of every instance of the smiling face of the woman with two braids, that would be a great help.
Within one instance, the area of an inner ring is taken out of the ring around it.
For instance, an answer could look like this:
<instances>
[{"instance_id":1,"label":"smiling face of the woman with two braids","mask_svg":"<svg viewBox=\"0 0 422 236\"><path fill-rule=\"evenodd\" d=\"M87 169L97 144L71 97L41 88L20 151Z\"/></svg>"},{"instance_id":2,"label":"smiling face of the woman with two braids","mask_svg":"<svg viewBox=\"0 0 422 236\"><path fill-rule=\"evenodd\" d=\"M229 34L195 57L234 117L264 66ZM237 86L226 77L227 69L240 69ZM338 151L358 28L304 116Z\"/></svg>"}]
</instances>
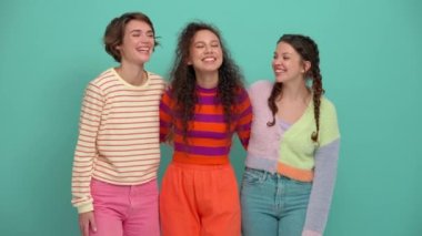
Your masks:
<instances>
[{"instance_id":1,"label":"smiling face of the woman with two braids","mask_svg":"<svg viewBox=\"0 0 422 236\"><path fill-rule=\"evenodd\" d=\"M303 61L293 47L283 41L278 43L272 60L277 82L304 80L304 74L309 68L310 62Z\"/></svg>"}]
</instances>

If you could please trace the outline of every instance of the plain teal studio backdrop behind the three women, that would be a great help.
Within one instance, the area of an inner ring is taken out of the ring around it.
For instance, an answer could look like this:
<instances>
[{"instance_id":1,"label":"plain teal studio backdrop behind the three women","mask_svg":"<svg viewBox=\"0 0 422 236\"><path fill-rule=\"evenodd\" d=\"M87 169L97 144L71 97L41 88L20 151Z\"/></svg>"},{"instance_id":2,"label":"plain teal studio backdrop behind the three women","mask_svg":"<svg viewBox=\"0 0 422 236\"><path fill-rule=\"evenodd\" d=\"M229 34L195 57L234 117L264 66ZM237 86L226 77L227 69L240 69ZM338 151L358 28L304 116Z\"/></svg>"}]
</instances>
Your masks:
<instances>
[{"instance_id":1,"label":"plain teal studio backdrop behind the three women","mask_svg":"<svg viewBox=\"0 0 422 236\"><path fill-rule=\"evenodd\" d=\"M218 25L247 83L272 80L275 41L311 35L342 145L326 236L422 232L422 1L2 0L0 2L0 235L79 235L70 178L87 83L115 65L107 23L143 11L161 47L147 68L168 75L177 34ZM239 182L245 152L237 141ZM163 147L161 176L170 161Z\"/></svg>"}]
</instances>

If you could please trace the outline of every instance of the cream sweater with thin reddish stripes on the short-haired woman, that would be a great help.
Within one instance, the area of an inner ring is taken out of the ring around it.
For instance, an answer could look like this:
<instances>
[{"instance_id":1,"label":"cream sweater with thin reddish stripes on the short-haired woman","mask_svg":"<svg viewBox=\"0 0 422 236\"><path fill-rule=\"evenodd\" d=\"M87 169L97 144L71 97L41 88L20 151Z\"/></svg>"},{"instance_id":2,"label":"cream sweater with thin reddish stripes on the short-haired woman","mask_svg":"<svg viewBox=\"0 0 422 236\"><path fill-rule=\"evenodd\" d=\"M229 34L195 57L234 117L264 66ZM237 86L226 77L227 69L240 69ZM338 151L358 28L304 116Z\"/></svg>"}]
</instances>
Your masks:
<instances>
[{"instance_id":1,"label":"cream sweater with thin reddish stripes on the short-haired woman","mask_svg":"<svg viewBox=\"0 0 422 236\"><path fill-rule=\"evenodd\" d=\"M91 178L135 185L157 177L160 163L159 104L165 89L148 72L141 86L127 83L114 69L86 90L72 171L72 204L79 213L93 209Z\"/></svg>"}]
</instances>

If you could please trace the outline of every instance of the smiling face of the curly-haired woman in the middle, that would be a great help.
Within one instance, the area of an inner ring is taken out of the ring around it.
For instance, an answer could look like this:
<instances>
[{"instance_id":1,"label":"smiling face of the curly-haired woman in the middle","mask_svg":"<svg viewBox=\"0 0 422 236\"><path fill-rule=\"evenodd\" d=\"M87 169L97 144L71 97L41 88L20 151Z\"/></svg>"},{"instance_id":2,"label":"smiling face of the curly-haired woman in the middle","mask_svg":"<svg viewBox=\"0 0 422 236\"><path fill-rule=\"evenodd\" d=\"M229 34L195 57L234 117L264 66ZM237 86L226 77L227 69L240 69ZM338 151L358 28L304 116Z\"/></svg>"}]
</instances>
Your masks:
<instances>
[{"instance_id":1,"label":"smiling face of the curly-haired woman in the middle","mask_svg":"<svg viewBox=\"0 0 422 236\"><path fill-rule=\"evenodd\" d=\"M223 62L219 38L209 30L198 31L189 48L188 64L197 73L217 73Z\"/></svg>"}]
</instances>

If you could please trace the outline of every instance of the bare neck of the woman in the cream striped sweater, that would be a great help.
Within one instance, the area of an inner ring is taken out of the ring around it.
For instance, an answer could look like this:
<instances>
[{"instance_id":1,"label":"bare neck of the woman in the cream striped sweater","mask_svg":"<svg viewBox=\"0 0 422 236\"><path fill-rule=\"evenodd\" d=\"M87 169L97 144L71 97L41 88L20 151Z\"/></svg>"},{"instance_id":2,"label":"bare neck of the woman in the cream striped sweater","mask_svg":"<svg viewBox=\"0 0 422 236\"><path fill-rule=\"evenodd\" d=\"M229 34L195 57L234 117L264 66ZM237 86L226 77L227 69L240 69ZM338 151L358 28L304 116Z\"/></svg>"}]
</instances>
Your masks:
<instances>
[{"instance_id":1,"label":"bare neck of the woman in the cream striped sweater","mask_svg":"<svg viewBox=\"0 0 422 236\"><path fill-rule=\"evenodd\" d=\"M134 65L122 63L120 66L115 68L115 71L125 82L135 86L142 85L148 79L143 64Z\"/></svg>"}]
</instances>

